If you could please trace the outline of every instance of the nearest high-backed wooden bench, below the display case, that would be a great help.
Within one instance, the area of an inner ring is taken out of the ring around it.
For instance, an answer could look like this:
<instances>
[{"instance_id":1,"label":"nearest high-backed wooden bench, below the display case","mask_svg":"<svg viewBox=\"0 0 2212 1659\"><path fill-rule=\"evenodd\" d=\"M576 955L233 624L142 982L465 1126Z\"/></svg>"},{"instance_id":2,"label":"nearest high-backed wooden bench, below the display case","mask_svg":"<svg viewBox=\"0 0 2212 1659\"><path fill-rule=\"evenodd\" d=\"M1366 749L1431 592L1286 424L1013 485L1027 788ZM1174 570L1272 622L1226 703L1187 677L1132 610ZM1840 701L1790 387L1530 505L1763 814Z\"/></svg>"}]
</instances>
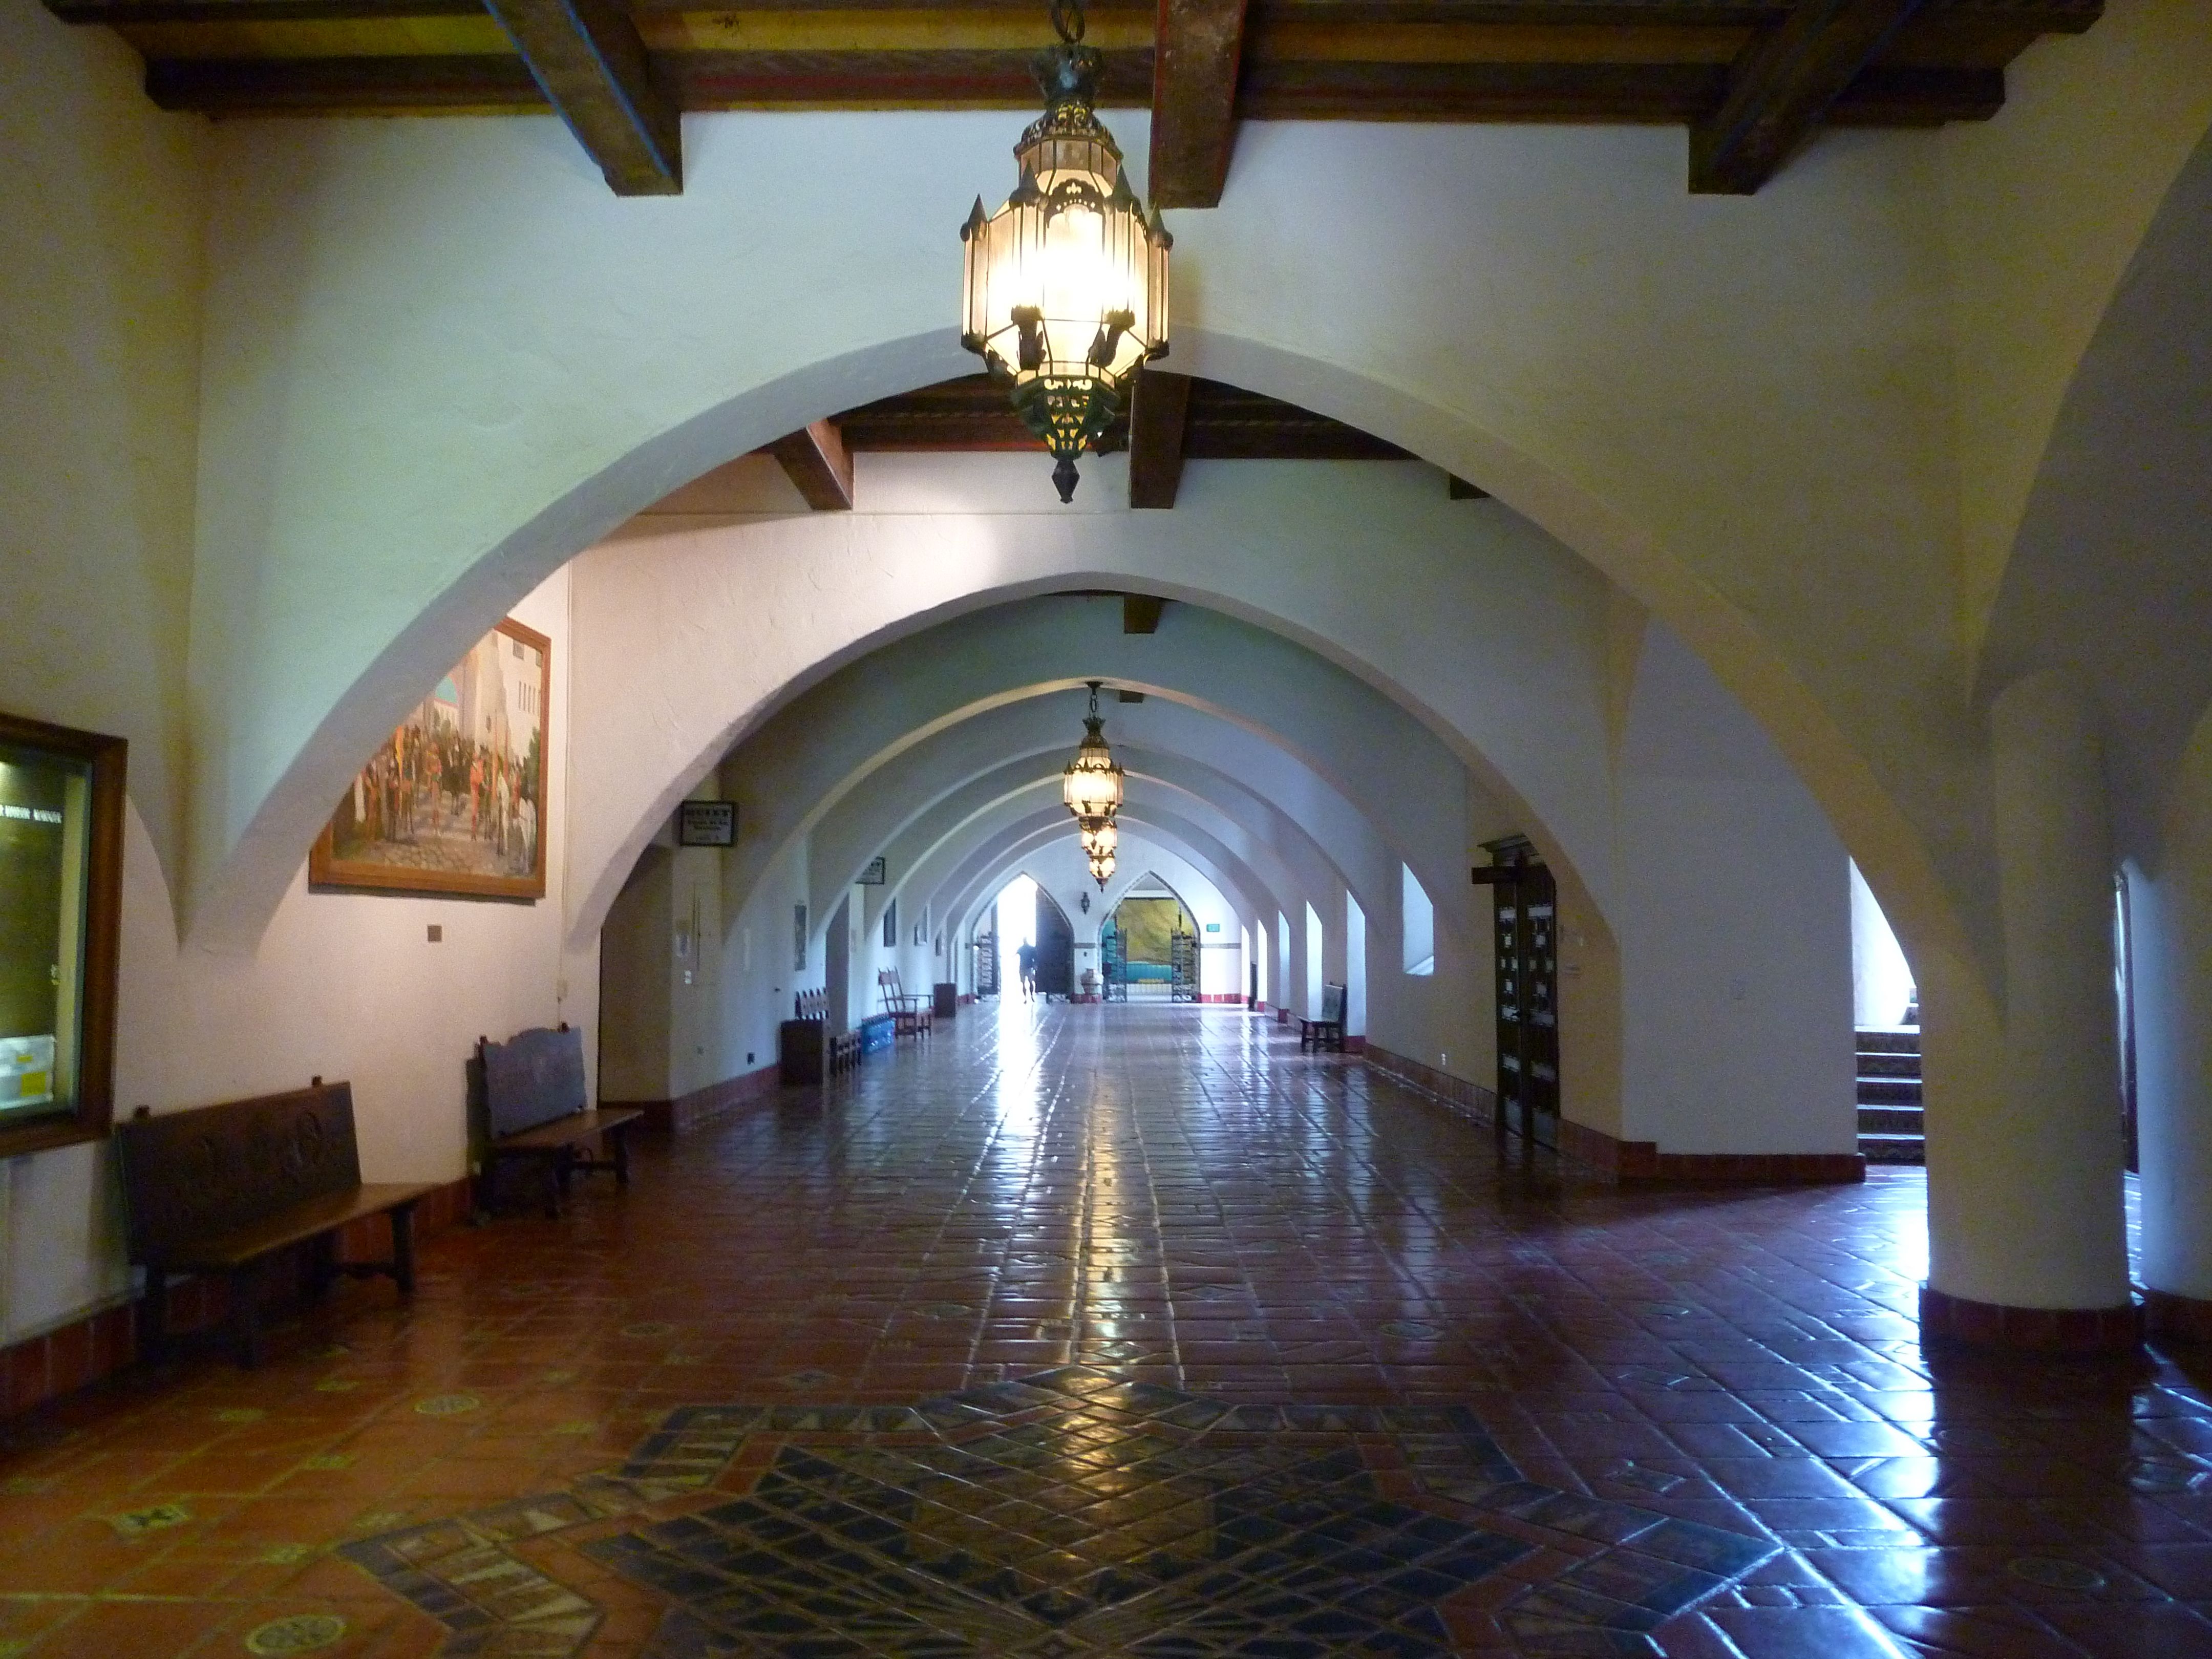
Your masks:
<instances>
[{"instance_id":1,"label":"nearest high-backed wooden bench, below the display case","mask_svg":"<svg viewBox=\"0 0 2212 1659\"><path fill-rule=\"evenodd\" d=\"M429 1183L361 1179L352 1084L321 1077L288 1095L232 1099L153 1117L144 1106L115 1130L124 1168L131 1261L146 1270L139 1349L168 1343L168 1276L219 1272L230 1281L239 1365L261 1363L261 1285L268 1261L314 1250L310 1287L345 1274L389 1274L414 1290L414 1208ZM392 1219L389 1261L338 1261L338 1230Z\"/></svg>"}]
</instances>

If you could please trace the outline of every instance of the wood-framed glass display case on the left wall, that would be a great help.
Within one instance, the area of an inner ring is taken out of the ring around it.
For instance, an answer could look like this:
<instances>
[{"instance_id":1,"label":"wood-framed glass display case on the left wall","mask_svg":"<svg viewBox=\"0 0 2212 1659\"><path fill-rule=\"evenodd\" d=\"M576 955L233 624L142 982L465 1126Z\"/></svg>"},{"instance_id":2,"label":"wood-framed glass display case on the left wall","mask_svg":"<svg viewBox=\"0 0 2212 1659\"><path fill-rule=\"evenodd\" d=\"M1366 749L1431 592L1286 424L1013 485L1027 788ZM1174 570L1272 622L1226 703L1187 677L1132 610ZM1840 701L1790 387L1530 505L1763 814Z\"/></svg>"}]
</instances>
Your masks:
<instances>
[{"instance_id":1,"label":"wood-framed glass display case on the left wall","mask_svg":"<svg viewBox=\"0 0 2212 1659\"><path fill-rule=\"evenodd\" d=\"M106 1135L124 741L0 714L0 1157Z\"/></svg>"}]
</instances>

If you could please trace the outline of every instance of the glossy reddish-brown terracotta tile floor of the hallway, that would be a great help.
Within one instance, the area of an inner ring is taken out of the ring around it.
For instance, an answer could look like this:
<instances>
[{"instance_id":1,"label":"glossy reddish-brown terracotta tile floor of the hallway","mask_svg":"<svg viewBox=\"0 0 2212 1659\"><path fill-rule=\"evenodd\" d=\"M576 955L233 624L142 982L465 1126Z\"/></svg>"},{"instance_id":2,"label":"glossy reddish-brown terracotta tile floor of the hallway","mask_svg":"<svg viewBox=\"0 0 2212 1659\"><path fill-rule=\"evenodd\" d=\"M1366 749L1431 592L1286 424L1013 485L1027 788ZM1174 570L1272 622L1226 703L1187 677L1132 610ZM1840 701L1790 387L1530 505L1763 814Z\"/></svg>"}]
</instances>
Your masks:
<instances>
[{"instance_id":1,"label":"glossy reddish-brown terracotta tile floor of the hallway","mask_svg":"<svg viewBox=\"0 0 2212 1659\"><path fill-rule=\"evenodd\" d=\"M1922 1356L1918 1170L1635 1192L969 1009L11 1425L0 1657L2212 1655L2203 1369Z\"/></svg>"}]
</instances>

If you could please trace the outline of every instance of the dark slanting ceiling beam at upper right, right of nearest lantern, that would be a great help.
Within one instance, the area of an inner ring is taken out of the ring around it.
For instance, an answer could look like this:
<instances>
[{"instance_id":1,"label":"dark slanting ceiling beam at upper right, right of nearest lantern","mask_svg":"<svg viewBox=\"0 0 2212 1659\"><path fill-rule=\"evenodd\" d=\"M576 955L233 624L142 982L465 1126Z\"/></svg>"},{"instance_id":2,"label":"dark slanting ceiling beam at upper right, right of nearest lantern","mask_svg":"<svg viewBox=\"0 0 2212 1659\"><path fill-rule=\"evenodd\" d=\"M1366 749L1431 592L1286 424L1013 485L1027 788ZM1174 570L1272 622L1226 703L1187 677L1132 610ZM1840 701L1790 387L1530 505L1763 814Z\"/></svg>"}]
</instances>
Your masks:
<instances>
[{"instance_id":1,"label":"dark slanting ceiling beam at upper right, right of nearest lantern","mask_svg":"<svg viewBox=\"0 0 2212 1659\"><path fill-rule=\"evenodd\" d=\"M1728 71L1728 97L1690 128L1690 192L1747 197L1918 11L1920 0L1798 0Z\"/></svg>"}]
</instances>

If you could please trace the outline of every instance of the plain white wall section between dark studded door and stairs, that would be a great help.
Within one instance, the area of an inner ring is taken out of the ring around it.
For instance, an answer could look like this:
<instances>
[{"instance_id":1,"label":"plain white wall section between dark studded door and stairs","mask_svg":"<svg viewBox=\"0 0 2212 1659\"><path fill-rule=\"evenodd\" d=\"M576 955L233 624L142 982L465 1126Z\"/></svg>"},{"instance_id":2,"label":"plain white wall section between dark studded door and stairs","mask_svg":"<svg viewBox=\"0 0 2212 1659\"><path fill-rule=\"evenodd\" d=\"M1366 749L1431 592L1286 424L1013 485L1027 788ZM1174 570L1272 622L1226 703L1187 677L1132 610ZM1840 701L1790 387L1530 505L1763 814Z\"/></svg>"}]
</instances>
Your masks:
<instances>
[{"instance_id":1,"label":"plain white wall section between dark studded door and stairs","mask_svg":"<svg viewBox=\"0 0 2212 1659\"><path fill-rule=\"evenodd\" d=\"M1854 1150L1849 860L1774 745L1659 622L1621 754L1621 874L1624 1139Z\"/></svg>"}]
</instances>

